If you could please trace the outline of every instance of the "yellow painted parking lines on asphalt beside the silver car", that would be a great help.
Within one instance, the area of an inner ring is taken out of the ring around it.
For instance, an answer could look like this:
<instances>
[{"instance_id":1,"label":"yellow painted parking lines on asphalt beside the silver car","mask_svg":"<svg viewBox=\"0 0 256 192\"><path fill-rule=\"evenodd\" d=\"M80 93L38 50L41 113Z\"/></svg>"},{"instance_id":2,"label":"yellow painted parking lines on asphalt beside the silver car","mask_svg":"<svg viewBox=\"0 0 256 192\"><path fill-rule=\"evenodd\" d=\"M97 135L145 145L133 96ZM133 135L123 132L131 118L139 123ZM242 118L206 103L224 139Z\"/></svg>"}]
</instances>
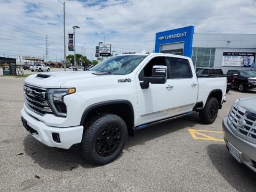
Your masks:
<instances>
[{"instance_id":1,"label":"yellow painted parking lines on asphalt beside the silver car","mask_svg":"<svg viewBox=\"0 0 256 192\"><path fill-rule=\"evenodd\" d=\"M195 140L209 140L209 141L224 141L223 139L213 137L213 135L209 134L221 134L223 135L223 131L209 131L209 130L198 130L198 129L188 129L189 133Z\"/></svg>"}]
</instances>

